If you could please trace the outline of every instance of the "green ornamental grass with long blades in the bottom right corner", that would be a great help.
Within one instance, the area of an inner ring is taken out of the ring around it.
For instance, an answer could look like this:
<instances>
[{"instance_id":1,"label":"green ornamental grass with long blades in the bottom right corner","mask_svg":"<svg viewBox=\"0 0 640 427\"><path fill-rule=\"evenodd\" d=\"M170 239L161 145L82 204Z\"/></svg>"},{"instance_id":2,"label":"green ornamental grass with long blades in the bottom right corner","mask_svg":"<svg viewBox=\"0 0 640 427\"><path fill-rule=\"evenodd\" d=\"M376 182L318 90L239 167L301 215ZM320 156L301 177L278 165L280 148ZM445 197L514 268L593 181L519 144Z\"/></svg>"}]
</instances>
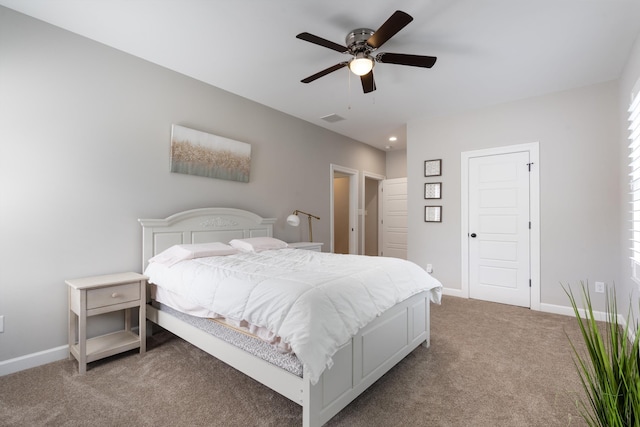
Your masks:
<instances>
[{"instance_id":1,"label":"green ornamental grass with long blades in the bottom right corner","mask_svg":"<svg viewBox=\"0 0 640 427\"><path fill-rule=\"evenodd\" d=\"M607 289L606 322L597 322L589 290L581 285L584 318L571 289L564 289L584 340L582 350L569 339L586 392L579 402L581 415L589 426L640 427L640 327L630 332L619 325L615 289ZM633 325L631 309L627 319Z\"/></svg>"}]
</instances>

